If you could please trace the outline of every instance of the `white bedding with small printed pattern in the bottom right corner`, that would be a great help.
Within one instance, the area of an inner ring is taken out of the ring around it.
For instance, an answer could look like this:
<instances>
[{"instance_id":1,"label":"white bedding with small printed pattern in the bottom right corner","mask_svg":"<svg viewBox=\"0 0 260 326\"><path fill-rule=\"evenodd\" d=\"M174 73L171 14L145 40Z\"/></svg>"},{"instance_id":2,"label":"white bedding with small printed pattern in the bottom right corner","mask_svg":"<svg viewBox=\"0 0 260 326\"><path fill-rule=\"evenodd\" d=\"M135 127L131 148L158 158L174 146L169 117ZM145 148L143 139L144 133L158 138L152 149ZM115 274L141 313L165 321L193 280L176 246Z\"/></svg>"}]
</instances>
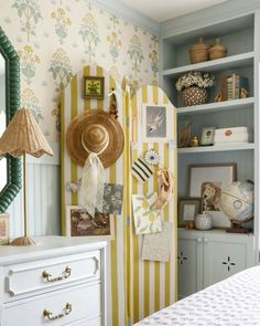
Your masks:
<instances>
[{"instance_id":1,"label":"white bedding with small printed pattern in the bottom right corner","mask_svg":"<svg viewBox=\"0 0 260 326\"><path fill-rule=\"evenodd\" d=\"M260 266L185 297L134 325L260 325Z\"/></svg>"}]
</instances>

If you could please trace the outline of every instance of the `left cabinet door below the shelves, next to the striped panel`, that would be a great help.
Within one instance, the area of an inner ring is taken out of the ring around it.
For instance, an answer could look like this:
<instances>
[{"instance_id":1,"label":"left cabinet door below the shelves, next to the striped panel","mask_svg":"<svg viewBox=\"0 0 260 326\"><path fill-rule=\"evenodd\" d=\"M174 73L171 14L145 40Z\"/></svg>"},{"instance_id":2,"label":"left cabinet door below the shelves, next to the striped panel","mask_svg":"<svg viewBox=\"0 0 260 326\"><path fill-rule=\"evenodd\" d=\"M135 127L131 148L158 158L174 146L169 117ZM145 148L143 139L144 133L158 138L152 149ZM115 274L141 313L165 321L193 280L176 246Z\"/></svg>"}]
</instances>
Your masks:
<instances>
[{"instance_id":1,"label":"left cabinet door below the shelves, next to the striped panel","mask_svg":"<svg viewBox=\"0 0 260 326\"><path fill-rule=\"evenodd\" d=\"M203 288L203 232L178 231L178 298Z\"/></svg>"}]
</instances>

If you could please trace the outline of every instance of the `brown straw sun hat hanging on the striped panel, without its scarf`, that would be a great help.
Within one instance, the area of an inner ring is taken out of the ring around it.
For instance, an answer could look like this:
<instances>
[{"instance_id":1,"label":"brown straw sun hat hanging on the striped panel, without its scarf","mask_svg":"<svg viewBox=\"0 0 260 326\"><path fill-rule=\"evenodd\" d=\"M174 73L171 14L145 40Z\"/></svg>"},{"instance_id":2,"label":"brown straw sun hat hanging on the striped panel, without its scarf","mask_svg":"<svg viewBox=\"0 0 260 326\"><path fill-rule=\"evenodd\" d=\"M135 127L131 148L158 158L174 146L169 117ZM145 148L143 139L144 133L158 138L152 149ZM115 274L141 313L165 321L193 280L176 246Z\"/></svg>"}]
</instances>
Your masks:
<instances>
[{"instance_id":1,"label":"brown straw sun hat hanging on the striped panel, without its scarf","mask_svg":"<svg viewBox=\"0 0 260 326\"><path fill-rule=\"evenodd\" d=\"M110 167L123 150L120 124L107 112L90 109L77 115L66 133L66 145L72 159L80 166L89 153L97 153L104 168Z\"/></svg>"}]
</instances>

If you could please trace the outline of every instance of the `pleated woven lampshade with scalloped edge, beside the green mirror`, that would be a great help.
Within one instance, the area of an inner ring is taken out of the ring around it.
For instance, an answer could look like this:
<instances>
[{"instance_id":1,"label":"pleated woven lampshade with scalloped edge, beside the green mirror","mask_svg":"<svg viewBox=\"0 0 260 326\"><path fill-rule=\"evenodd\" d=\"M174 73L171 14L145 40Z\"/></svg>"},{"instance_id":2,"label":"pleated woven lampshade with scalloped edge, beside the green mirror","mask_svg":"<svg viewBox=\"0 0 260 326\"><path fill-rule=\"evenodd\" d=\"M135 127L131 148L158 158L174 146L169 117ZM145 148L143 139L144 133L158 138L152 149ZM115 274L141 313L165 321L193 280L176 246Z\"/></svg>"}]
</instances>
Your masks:
<instances>
[{"instance_id":1,"label":"pleated woven lampshade with scalloped edge, beside the green mirror","mask_svg":"<svg viewBox=\"0 0 260 326\"><path fill-rule=\"evenodd\" d=\"M41 157L53 156L52 148L28 108L20 108L0 138L0 156L10 154L13 157L30 154Z\"/></svg>"}]
</instances>

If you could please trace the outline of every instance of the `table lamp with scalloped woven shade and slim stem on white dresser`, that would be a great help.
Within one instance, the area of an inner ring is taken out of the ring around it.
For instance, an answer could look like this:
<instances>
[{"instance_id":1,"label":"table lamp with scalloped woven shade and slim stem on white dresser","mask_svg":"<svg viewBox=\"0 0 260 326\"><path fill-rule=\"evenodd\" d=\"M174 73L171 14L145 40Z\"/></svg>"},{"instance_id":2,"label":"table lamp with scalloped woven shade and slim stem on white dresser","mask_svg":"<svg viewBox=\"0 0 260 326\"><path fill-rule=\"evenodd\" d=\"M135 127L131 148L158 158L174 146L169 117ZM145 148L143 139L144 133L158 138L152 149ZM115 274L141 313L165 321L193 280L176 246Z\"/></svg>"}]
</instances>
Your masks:
<instances>
[{"instance_id":1,"label":"table lamp with scalloped woven shade and slim stem on white dresser","mask_svg":"<svg viewBox=\"0 0 260 326\"><path fill-rule=\"evenodd\" d=\"M9 154L13 157L23 156L23 219L24 235L14 239L11 245L33 245L35 241L28 236L26 218L26 154L36 158L43 154L53 156L42 130L28 108L20 108L9 123L0 138L0 156Z\"/></svg>"}]
</instances>

